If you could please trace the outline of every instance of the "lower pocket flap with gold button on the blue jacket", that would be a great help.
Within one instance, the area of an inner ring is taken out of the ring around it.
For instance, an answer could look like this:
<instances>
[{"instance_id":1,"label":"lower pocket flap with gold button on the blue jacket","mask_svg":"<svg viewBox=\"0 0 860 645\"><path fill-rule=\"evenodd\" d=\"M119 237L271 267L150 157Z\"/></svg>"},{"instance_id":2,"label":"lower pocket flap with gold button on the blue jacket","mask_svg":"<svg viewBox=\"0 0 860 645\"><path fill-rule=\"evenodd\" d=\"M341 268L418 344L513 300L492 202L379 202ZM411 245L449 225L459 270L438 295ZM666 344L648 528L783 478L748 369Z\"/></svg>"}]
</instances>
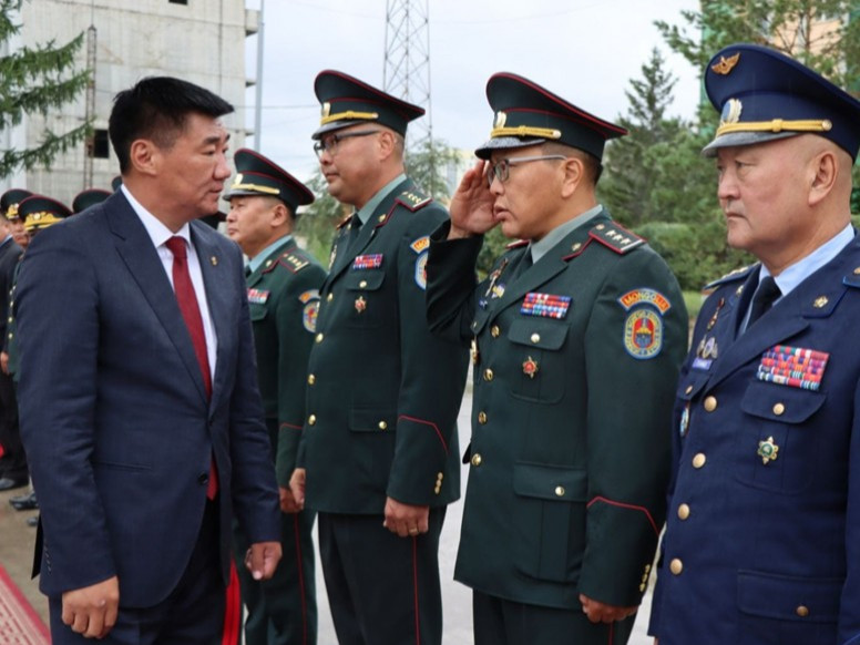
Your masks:
<instances>
[{"instance_id":1,"label":"lower pocket flap with gold button on the blue jacket","mask_svg":"<svg viewBox=\"0 0 860 645\"><path fill-rule=\"evenodd\" d=\"M842 581L738 572L738 608L745 614L832 623L839 617Z\"/></svg>"}]
</instances>

